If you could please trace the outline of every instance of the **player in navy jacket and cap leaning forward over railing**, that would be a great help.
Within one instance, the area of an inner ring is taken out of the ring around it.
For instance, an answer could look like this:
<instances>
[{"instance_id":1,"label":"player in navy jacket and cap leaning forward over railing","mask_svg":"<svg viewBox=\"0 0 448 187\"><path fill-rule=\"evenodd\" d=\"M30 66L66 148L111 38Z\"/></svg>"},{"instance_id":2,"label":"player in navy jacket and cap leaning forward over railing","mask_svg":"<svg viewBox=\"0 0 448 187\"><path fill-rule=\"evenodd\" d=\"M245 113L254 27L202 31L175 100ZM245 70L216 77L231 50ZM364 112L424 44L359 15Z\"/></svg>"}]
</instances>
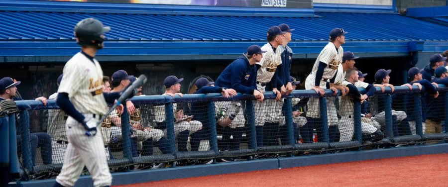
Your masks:
<instances>
[{"instance_id":1,"label":"player in navy jacket and cap leaning forward over railing","mask_svg":"<svg viewBox=\"0 0 448 187\"><path fill-rule=\"evenodd\" d=\"M257 89L257 69L255 67L255 63L260 62L263 58L263 53L266 53L266 51L261 50L260 46L249 46L246 53L243 53L224 69L215 85L231 88L242 94L253 94L259 101L263 100L263 93ZM257 145L260 145L263 138L263 129L261 126L256 128Z\"/></svg>"}]
</instances>

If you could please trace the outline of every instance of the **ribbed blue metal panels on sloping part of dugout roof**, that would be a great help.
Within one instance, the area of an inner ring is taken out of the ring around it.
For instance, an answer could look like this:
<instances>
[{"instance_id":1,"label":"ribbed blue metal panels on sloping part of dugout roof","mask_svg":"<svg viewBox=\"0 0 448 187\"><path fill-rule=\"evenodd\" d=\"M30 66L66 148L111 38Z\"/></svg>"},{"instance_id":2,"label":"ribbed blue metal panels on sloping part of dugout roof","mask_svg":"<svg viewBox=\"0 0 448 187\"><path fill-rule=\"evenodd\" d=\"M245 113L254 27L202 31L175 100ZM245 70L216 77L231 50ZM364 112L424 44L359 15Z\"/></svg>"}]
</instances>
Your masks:
<instances>
[{"instance_id":1,"label":"ribbed blue metal panels on sloping part of dugout roof","mask_svg":"<svg viewBox=\"0 0 448 187\"><path fill-rule=\"evenodd\" d=\"M272 25L296 29L293 41L327 41L335 27L347 41L447 41L448 27L394 13L316 12L315 17L0 11L0 40L73 40L81 19L111 26L117 41L265 41Z\"/></svg>"}]
</instances>

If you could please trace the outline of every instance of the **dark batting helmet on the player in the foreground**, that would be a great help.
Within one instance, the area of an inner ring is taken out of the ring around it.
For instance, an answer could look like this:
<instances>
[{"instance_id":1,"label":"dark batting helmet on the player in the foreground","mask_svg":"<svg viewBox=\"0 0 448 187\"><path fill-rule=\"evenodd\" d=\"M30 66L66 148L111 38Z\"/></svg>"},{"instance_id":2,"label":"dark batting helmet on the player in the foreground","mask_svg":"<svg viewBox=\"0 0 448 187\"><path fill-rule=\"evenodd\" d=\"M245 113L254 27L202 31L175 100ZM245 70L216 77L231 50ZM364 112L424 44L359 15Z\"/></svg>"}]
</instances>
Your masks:
<instances>
[{"instance_id":1,"label":"dark batting helmet on the player in the foreground","mask_svg":"<svg viewBox=\"0 0 448 187\"><path fill-rule=\"evenodd\" d=\"M76 24L74 34L78 38L79 45L101 46L104 40L101 35L110 30L111 27L105 27L100 20L86 18Z\"/></svg>"}]
</instances>

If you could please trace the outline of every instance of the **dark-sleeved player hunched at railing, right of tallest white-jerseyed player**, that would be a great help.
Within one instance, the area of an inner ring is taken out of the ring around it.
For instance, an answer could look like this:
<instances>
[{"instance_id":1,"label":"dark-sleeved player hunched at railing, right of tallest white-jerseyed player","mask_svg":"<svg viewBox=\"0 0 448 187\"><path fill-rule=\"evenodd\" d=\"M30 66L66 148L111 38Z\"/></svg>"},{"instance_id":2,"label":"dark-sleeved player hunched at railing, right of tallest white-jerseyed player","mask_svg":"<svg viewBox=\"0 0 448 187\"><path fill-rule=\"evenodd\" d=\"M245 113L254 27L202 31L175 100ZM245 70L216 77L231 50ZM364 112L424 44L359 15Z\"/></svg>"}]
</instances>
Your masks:
<instances>
[{"instance_id":1,"label":"dark-sleeved player hunched at railing, right of tallest white-jerseyed player","mask_svg":"<svg viewBox=\"0 0 448 187\"><path fill-rule=\"evenodd\" d=\"M346 60L345 63L354 63L352 62L354 61L354 59L355 59L354 56L348 59L344 58L344 60ZM367 93L360 94L357 87L354 86L354 84L357 82L358 82L357 69L356 68L348 69L346 71L345 81L343 82L343 85L346 85L350 90L349 91L350 96L349 95L342 96L341 99L339 100L339 113L341 115L338 124L340 133L339 135L340 142L351 141L351 139L353 138L354 134L353 102L362 103L365 99L368 98L369 95L373 95L375 93L375 87L367 83L363 83L359 85L360 87L366 89ZM384 134L381 132L381 130L363 121L361 121L361 131L363 134L372 134L373 136L375 136L374 139L376 140L381 140L384 137Z\"/></svg>"}]
</instances>

